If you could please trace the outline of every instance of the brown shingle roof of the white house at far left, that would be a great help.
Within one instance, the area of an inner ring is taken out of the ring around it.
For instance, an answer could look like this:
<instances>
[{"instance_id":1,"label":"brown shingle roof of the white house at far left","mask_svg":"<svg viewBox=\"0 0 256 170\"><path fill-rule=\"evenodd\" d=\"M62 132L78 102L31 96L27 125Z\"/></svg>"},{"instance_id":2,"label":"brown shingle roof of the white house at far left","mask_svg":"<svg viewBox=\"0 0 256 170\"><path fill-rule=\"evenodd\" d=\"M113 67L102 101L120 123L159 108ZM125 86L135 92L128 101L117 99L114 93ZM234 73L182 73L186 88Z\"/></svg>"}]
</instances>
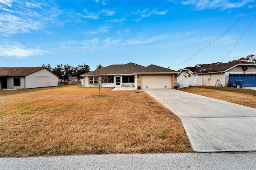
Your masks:
<instances>
[{"instance_id":1,"label":"brown shingle roof of the white house at far left","mask_svg":"<svg viewBox=\"0 0 256 170\"><path fill-rule=\"evenodd\" d=\"M47 69L47 68L46 67L0 67L0 76L7 76L7 75L8 76L26 76L42 69ZM49 69L47 70L50 71Z\"/></svg>"}]
</instances>

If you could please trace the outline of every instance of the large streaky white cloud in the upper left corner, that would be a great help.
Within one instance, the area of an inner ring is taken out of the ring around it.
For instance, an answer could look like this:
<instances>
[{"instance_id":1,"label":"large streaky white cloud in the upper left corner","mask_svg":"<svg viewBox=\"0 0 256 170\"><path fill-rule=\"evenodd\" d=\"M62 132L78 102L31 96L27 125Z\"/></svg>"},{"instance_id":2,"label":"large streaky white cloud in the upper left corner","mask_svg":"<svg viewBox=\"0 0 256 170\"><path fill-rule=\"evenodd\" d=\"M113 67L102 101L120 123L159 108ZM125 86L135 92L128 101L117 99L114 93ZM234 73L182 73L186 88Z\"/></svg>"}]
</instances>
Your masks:
<instances>
[{"instance_id":1,"label":"large streaky white cloud in the upper left corner","mask_svg":"<svg viewBox=\"0 0 256 170\"><path fill-rule=\"evenodd\" d=\"M12 8L1 7L0 32L3 36L31 33L52 24L60 24L57 16L62 12L48 2L17 1Z\"/></svg>"}]
</instances>

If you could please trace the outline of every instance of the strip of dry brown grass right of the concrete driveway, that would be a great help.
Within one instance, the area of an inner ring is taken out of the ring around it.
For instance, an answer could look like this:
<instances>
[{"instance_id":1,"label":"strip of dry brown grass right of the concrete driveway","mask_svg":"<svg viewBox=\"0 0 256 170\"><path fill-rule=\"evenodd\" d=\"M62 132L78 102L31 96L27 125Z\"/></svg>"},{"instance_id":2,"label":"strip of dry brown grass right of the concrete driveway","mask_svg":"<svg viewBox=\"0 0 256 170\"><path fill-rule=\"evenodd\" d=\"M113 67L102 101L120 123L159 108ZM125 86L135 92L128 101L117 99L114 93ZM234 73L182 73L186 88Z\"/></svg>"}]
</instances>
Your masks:
<instances>
[{"instance_id":1,"label":"strip of dry brown grass right of the concrete driveway","mask_svg":"<svg viewBox=\"0 0 256 170\"><path fill-rule=\"evenodd\" d=\"M180 90L256 109L256 90L208 86L186 87Z\"/></svg>"}]
</instances>

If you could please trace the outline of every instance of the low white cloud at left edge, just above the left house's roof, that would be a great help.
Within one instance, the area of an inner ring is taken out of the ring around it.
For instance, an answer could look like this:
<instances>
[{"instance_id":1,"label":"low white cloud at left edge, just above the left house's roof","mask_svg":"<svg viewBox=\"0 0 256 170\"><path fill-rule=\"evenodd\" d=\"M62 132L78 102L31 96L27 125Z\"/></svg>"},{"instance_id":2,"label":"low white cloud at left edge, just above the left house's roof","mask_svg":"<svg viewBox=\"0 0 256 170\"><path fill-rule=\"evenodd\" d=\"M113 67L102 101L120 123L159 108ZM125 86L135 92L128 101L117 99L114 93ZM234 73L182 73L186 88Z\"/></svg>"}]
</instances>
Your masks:
<instances>
[{"instance_id":1,"label":"low white cloud at left edge, just above the left house's roof","mask_svg":"<svg viewBox=\"0 0 256 170\"><path fill-rule=\"evenodd\" d=\"M1 40L0 54L3 57L24 58L44 53L48 53L48 51L39 48L26 48L19 42L12 42L6 39Z\"/></svg>"}]
</instances>

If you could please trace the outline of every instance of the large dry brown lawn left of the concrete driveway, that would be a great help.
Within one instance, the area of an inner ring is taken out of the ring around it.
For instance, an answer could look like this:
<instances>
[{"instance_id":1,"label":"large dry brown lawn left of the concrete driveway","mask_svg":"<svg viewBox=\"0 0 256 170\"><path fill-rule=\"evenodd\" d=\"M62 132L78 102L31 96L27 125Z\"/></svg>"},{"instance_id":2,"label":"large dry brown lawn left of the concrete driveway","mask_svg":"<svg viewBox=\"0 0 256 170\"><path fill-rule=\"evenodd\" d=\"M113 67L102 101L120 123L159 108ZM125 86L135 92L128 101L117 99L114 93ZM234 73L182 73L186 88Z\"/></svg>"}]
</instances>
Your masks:
<instances>
[{"instance_id":1,"label":"large dry brown lawn left of the concrete driveway","mask_svg":"<svg viewBox=\"0 0 256 170\"><path fill-rule=\"evenodd\" d=\"M144 91L0 91L0 156L192 152L180 119Z\"/></svg>"}]
</instances>

